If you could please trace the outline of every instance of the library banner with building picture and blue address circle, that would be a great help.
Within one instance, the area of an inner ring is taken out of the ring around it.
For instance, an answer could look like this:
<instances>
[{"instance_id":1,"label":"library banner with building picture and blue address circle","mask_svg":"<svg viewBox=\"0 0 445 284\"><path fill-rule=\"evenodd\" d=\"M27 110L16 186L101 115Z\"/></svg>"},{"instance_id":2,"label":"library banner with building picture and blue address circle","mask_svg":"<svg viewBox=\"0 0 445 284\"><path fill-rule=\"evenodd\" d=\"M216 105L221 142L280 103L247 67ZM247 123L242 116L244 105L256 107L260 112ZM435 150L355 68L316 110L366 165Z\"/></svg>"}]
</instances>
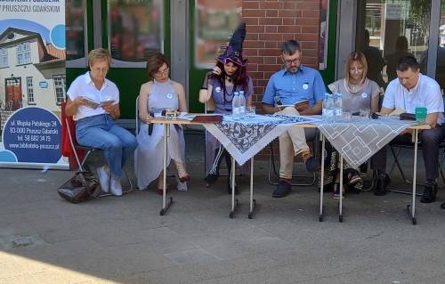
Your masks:
<instances>
[{"instance_id":1,"label":"library banner with building picture and blue address circle","mask_svg":"<svg viewBox=\"0 0 445 284\"><path fill-rule=\"evenodd\" d=\"M65 3L0 2L0 166L69 167L61 157Z\"/></svg>"}]
</instances>

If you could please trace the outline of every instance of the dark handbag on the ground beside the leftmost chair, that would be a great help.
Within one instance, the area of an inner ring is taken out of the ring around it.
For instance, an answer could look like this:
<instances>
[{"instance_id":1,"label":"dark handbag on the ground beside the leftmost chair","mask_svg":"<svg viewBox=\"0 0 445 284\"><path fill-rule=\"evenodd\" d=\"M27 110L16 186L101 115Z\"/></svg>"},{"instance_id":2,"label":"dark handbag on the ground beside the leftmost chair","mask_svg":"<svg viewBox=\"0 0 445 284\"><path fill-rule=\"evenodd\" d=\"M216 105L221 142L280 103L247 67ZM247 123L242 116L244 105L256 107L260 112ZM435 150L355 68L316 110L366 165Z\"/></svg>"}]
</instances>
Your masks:
<instances>
[{"instance_id":1,"label":"dark handbag on the ground beside the leftmost chair","mask_svg":"<svg viewBox=\"0 0 445 284\"><path fill-rule=\"evenodd\" d=\"M77 172L67 182L63 183L57 192L62 199L71 203L80 203L97 196L99 184L93 173L88 171Z\"/></svg>"}]
</instances>

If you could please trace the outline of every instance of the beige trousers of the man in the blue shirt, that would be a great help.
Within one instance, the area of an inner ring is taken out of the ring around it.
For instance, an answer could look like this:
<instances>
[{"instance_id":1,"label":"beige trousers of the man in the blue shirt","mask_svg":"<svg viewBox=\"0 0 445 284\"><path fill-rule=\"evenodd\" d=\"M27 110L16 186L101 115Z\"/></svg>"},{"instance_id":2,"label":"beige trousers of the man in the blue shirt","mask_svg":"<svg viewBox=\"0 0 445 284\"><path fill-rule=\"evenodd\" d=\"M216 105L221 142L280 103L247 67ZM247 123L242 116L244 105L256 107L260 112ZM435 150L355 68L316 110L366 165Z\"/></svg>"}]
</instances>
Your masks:
<instances>
[{"instance_id":1,"label":"beige trousers of the man in the blue shirt","mask_svg":"<svg viewBox=\"0 0 445 284\"><path fill-rule=\"evenodd\" d=\"M277 112L278 114L298 115L298 110L294 107L287 107ZM294 169L294 157L300 153L308 152L309 146L306 143L306 135L312 136L315 131L304 133L304 128L292 126L284 134L279 135L279 177L291 179Z\"/></svg>"}]
</instances>

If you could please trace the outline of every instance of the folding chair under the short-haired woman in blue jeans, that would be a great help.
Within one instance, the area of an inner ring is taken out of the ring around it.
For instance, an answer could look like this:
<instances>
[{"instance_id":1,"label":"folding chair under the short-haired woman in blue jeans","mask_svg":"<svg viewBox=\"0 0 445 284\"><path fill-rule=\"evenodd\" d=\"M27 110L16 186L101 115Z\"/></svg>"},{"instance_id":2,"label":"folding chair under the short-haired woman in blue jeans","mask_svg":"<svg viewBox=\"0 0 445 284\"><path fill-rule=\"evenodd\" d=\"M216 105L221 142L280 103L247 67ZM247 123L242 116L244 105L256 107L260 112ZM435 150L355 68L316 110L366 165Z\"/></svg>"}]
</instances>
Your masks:
<instances>
[{"instance_id":1,"label":"folding chair under the short-haired woman in blue jeans","mask_svg":"<svg viewBox=\"0 0 445 284\"><path fill-rule=\"evenodd\" d=\"M86 147L86 146L78 144L77 139L76 139L76 132L74 132L74 133L71 132L71 128L70 128L70 120L72 121L73 118L65 117L64 119L65 119L65 126L67 127L67 132L68 132L68 136L69 136L69 144L71 145L71 149L73 150L74 158L76 158L76 162L77 162L77 166L78 166L79 170L83 171L84 168L91 170L90 167L86 164L86 160L90 156L91 153L101 151L101 149L93 148L93 147ZM82 160L80 160L80 158L77 154L77 150L85 150L85 156L84 156L84 158L82 158ZM123 169L123 171L125 173L126 180L128 181L128 184L130 184L129 190L122 191L123 194L126 194L126 193L133 191L134 187L133 187L133 183L132 183L128 173L126 172L126 170ZM102 193L99 196L97 196L97 198L107 197L107 196L112 196L112 194L111 193Z\"/></svg>"}]
</instances>

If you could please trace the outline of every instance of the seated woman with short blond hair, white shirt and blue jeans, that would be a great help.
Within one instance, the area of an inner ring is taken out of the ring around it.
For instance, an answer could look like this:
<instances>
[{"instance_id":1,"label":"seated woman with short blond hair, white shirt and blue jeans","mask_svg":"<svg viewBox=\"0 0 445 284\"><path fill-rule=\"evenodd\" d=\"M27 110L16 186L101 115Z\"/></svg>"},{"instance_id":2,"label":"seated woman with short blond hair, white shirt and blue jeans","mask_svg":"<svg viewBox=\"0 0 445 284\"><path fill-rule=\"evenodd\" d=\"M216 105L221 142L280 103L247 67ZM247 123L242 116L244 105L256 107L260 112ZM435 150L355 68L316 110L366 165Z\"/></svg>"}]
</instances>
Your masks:
<instances>
[{"instance_id":1,"label":"seated woman with short blond hair, white shirt and blue jeans","mask_svg":"<svg viewBox=\"0 0 445 284\"><path fill-rule=\"evenodd\" d=\"M101 190L122 195L122 168L137 146L134 135L116 123L120 117L119 90L106 78L110 56L98 48L88 54L90 71L69 86L67 116L76 121L77 142L104 151L107 164L97 169Z\"/></svg>"}]
</instances>

